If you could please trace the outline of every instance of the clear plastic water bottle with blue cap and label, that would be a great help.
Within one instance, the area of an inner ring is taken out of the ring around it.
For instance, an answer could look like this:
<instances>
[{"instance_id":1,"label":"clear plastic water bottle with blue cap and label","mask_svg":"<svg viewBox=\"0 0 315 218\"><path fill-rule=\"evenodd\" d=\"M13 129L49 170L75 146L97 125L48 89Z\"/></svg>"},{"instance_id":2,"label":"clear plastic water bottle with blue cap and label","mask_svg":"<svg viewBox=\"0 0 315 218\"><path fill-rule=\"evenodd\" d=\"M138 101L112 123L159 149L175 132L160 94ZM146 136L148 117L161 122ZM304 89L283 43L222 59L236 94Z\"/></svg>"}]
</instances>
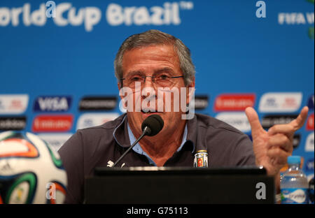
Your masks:
<instances>
[{"instance_id":1,"label":"clear plastic water bottle with blue cap and label","mask_svg":"<svg viewBox=\"0 0 315 218\"><path fill-rule=\"evenodd\" d=\"M281 203L306 204L309 203L309 182L300 169L301 157L288 157L288 170L281 177Z\"/></svg>"}]
</instances>

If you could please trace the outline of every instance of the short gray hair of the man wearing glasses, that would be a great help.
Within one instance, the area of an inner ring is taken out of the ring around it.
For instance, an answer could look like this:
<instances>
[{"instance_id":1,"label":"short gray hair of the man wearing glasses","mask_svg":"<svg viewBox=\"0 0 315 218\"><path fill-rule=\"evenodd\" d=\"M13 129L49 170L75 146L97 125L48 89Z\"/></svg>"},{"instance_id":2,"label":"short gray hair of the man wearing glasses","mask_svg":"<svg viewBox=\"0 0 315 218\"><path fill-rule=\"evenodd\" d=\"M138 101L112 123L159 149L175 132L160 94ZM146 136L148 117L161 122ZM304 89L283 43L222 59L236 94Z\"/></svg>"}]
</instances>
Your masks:
<instances>
[{"instance_id":1,"label":"short gray hair of the man wearing glasses","mask_svg":"<svg viewBox=\"0 0 315 218\"><path fill-rule=\"evenodd\" d=\"M193 82L195 66L190 57L190 50L179 38L156 29L134 34L128 37L120 46L114 61L115 75L118 82L123 78L123 55L125 51L149 45L174 45L174 51L179 56L179 64L183 72L185 85L190 85L190 82Z\"/></svg>"}]
</instances>

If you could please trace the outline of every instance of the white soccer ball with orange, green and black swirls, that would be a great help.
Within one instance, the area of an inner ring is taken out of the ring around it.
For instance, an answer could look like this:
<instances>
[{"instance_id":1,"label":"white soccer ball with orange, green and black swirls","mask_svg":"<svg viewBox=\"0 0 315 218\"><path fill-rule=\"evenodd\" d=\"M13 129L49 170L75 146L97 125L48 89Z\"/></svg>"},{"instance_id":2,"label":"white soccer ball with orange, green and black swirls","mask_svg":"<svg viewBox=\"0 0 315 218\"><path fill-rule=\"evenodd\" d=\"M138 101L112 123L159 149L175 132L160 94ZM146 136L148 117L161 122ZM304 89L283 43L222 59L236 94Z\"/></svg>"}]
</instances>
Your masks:
<instances>
[{"instance_id":1,"label":"white soccer ball with orange, green and black swirls","mask_svg":"<svg viewBox=\"0 0 315 218\"><path fill-rule=\"evenodd\" d=\"M63 203L59 154L33 133L0 133L0 203Z\"/></svg>"}]
</instances>

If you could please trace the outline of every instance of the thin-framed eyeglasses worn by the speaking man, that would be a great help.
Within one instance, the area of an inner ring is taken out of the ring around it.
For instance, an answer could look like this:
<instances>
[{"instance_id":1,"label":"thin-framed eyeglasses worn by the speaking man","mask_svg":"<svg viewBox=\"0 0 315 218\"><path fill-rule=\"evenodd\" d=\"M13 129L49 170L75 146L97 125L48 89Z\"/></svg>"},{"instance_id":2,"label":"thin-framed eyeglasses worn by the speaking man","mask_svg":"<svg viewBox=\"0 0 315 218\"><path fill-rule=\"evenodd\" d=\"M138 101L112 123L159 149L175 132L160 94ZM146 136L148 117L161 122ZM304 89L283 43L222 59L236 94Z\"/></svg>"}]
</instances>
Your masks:
<instances>
[{"instance_id":1,"label":"thin-framed eyeglasses worn by the speaking man","mask_svg":"<svg viewBox=\"0 0 315 218\"><path fill-rule=\"evenodd\" d=\"M123 87L123 80L125 80L125 85L134 89L136 86L136 82L141 82L141 85L144 85L146 82L146 78L151 78L152 82L158 87L173 87L176 82L173 80L175 78L183 78L183 75L179 76L169 76L166 74L151 76L151 75L132 75L130 78L122 78L120 79L121 87Z\"/></svg>"}]
</instances>

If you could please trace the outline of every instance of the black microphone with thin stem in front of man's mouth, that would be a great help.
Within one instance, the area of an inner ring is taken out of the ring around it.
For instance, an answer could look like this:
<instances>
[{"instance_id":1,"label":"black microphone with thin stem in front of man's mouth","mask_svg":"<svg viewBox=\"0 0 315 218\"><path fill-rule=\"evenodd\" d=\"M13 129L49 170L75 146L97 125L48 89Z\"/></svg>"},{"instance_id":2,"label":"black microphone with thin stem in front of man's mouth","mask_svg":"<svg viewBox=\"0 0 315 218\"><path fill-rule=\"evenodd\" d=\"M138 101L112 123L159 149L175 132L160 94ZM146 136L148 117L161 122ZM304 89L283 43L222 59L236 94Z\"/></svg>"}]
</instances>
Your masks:
<instances>
[{"instance_id":1,"label":"black microphone with thin stem in front of man's mouth","mask_svg":"<svg viewBox=\"0 0 315 218\"><path fill-rule=\"evenodd\" d=\"M141 138L144 138L144 136L155 136L156 134L160 133L160 131L163 129L164 122L163 119L159 115L150 115L144 119L144 122L141 124L142 134L141 136L134 141L134 143L123 153L122 156L116 161L116 163L113 164L112 167L116 166L116 164L125 157L125 155L134 147L134 145L137 145L139 140Z\"/></svg>"}]
</instances>

